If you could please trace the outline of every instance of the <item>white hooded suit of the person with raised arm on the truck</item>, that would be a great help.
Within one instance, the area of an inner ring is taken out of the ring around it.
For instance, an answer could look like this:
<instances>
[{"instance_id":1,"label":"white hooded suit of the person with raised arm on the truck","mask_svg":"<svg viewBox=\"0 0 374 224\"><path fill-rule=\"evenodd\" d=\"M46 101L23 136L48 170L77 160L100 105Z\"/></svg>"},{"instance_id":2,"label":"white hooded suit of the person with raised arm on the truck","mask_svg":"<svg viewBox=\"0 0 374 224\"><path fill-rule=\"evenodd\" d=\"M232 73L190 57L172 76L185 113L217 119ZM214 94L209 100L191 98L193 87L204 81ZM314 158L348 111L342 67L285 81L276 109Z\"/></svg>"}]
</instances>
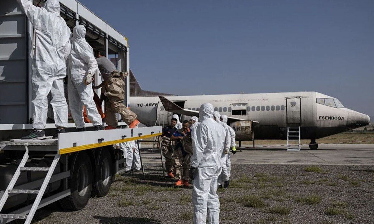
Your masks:
<instances>
[{"instance_id":1,"label":"white hooded suit of the person with raised arm on the truck","mask_svg":"<svg viewBox=\"0 0 374 224\"><path fill-rule=\"evenodd\" d=\"M56 127L67 127L68 106L64 94L66 59L70 53L71 32L60 16L58 0L47 0L44 7L33 5L32 1L17 0L35 31L35 49L32 69L33 128L45 129L50 104L53 108Z\"/></svg>"}]
</instances>

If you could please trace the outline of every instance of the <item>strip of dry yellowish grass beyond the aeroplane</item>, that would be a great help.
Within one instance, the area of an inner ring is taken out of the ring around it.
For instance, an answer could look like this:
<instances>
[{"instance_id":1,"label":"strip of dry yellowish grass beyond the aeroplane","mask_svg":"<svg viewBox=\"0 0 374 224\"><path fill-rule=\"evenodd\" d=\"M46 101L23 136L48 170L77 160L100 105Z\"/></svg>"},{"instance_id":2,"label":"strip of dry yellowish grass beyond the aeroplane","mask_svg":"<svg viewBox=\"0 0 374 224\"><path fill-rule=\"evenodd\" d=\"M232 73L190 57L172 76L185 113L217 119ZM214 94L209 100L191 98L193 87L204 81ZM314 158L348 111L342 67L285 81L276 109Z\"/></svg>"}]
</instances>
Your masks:
<instances>
[{"instance_id":1,"label":"strip of dry yellowish grass beyond the aeroplane","mask_svg":"<svg viewBox=\"0 0 374 224\"><path fill-rule=\"evenodd\" d=\"M339 143L347 141L367 141L374 140L374 133L341 133L332 136L317 139L317 142L322 143ZM301 144L309 144L310 140L301 140ZM242 141L242 144L252 145L252 141ZM287 144L286 140L255 140L255 144ZM374 144L374 142L358 142L354 144Z\"/></svg>"}]
</instances>

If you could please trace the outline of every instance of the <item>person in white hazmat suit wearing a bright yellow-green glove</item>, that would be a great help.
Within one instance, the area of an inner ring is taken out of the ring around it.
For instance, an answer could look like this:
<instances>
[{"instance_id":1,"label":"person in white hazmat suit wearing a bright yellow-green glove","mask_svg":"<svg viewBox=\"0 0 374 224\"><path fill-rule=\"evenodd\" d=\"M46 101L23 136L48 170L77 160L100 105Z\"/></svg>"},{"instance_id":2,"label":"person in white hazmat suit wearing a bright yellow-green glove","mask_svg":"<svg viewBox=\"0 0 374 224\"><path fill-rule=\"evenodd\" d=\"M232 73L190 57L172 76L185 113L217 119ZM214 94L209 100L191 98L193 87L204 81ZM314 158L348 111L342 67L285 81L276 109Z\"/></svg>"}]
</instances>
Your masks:
<instances>
[{"instance_id":1,"label":"person in white hazmat suit wearing a bright yellow-green glove","mask_svg":"<svg viewBox=\"0 0 374 224\"><path fill-rule=\"evenodd\" d=\"M221 115L221 122L225 124L229 128L229 133L230 133L230 147L233 152L233 154L236 153L236 143L235 143L235 131L232 127L227 125L227 115ZM223 167L226 168L226 172L222 172L220 176L218 177L218 186L222 186L224 188L229 187L230 185L230 175L231 175L231 161L230 161L230 153L226 154L226 163L223 164ZM223 169L225 169L223 168Z\"/></svg>"}]
</instances>

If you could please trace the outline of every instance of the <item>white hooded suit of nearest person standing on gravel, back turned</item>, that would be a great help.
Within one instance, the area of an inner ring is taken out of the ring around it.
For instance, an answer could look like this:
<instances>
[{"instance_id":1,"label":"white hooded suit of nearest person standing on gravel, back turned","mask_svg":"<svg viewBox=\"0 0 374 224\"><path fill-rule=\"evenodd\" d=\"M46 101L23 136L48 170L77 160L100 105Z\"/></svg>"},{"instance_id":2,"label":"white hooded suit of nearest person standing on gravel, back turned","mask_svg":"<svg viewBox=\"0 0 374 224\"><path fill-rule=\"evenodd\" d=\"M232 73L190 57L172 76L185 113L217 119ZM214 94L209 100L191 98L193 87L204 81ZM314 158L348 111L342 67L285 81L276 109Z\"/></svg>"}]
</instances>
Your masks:
<instances>
[{"instance_id":1,"label":"white hooded suit of nearest person standing on gravel, back turned","mask_svg":"<svg viewBox=\"0 0 374 224\"><path fill-rule=\"evenodd\" d=\"M213 120L213 111L210 103L201 105L200 122L192 132L191 167L196 167L192 190L194 224L206 223L207 209L209 224L219 223L220 200L216 193L217 178L222 168L221 155L226 147L224 141L229 133Z\"/></svg>"}]
</instances>

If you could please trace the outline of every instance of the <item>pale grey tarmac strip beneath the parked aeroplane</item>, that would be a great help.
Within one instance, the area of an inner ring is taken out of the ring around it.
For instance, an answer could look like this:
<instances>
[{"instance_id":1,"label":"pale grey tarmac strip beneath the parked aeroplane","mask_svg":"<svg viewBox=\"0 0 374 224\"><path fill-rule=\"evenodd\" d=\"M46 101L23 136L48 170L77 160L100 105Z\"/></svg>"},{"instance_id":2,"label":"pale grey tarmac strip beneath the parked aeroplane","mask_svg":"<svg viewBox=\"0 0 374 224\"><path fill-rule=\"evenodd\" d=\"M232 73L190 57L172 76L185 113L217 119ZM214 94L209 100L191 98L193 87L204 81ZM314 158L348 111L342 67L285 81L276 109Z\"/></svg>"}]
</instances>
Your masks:
<instances>
[{"instance_id":1,"label":"pale grey tarmac strip beneath the parked aeroplane","mask_svg":"<svg viewBox=\"0 0 374 224\"><path fill-rule=\"evenodd\" d=\"M250 145L243 145L249 147ZM286 146L243 149L233 155L232 164L295 164L295 165L374 165L374 144L320 144L310 150L301 146L297 152L287 152ZM145 155L146 154L146 155ZM142 156L159 156L159 153L142 153ZM143 163L159 163L160 159L143 159Z\"/></svg>"}]
</instances>

